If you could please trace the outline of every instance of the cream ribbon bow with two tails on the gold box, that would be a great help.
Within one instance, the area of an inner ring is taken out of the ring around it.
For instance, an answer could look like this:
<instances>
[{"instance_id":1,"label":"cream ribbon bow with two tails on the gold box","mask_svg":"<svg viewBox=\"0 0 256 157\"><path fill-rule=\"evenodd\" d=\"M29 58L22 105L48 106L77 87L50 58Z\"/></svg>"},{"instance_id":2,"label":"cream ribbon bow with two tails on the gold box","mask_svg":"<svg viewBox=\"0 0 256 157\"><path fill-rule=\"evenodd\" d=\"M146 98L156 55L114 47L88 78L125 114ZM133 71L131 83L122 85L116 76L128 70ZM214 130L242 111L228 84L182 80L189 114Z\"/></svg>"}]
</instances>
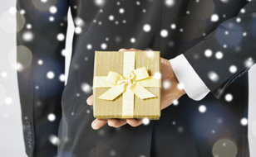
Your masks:
<instances>
[{"instance_id":1,"label":"cream ribbon bow with two tails on the gold box","mask_svg":"<svg viewBox=\"0 0 256 157\"><path fill-rule=\"evenodd\" d=\"M106 93L101 94L99 98L104 100L114 100L121 95L121 93L125 93L127 88L140 99L155 98L156 96L153 93L150 93L138 83L147 78L150 78L150 76L145 67L132 70L129 78L125 78L121 74L110 71L106 77L106 82L111 83L114 86L108 89Z\"/></svg>"}]
</instances>

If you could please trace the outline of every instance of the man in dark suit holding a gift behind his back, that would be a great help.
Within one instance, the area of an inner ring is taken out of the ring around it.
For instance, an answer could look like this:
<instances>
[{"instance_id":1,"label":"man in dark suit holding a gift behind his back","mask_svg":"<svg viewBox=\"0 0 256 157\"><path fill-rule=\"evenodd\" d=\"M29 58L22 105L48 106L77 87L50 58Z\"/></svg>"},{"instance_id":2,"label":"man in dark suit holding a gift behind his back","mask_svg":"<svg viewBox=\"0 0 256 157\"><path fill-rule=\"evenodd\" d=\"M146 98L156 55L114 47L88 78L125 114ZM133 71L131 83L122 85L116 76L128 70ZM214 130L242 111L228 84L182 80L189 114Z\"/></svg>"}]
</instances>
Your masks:
<instances>
[{"instance_id":1,"label":"man in dark suit holding a gift behind his back","mask_svg":"<svg viewBox=\"0 0 256 157\"><path fill-rule=\"evenodd\" d=\"M76 34L64 88L68 7ZM17 8L28 156L249 156L255 0L19 0ZM159 121L93 120L94 51L121 47L161 51Z\"/></svg>"}]
</instances>

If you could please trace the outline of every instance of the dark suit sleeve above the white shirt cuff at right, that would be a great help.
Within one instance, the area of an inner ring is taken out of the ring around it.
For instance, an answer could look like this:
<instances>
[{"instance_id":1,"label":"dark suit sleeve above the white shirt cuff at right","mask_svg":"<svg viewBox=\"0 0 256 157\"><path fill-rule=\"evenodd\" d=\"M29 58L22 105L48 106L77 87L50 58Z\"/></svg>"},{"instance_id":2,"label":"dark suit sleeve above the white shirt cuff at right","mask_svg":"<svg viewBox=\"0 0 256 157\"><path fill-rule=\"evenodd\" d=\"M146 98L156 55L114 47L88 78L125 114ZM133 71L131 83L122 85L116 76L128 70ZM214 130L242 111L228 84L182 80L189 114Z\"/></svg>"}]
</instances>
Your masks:
<instances>
[{"instance_id":1,"label":"dark suit sleeve above the white shirt cuff at right","mask_svg":"<svg viewBox=\"0 0 256 157\"><path fill-rule=\"evenodd\" d=\"M253 0L237 17L222 22L216 30L187 50L185 57L210 91L219 98L230 83L248 72L254 64L255 40L256 1Z\"/></svg>"}]
</instances>

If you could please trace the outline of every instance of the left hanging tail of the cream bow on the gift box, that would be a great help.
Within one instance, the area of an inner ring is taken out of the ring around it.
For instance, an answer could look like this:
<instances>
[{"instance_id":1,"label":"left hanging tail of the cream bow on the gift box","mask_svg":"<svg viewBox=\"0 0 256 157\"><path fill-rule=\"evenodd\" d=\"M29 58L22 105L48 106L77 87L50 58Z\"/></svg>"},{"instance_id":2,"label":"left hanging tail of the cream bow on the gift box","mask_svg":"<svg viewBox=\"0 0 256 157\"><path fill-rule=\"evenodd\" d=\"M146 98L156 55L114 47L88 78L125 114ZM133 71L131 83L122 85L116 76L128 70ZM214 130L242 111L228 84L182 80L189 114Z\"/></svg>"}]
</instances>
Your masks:
<instances>
[{"instance_id":1,"label":"left hanging tail of the cream bow on the gift box","mask_svg":"<svg viewBox=\"0 0 256 157\"><path fill-rule=\"evenodd\" d=\"M115 86L113 88L108 89L106 93L101 94L101 96L98 98L103 100L114 100L123 92L125 92L125 88L123 88L122 86Z\"/></svg>"}]
</instances>

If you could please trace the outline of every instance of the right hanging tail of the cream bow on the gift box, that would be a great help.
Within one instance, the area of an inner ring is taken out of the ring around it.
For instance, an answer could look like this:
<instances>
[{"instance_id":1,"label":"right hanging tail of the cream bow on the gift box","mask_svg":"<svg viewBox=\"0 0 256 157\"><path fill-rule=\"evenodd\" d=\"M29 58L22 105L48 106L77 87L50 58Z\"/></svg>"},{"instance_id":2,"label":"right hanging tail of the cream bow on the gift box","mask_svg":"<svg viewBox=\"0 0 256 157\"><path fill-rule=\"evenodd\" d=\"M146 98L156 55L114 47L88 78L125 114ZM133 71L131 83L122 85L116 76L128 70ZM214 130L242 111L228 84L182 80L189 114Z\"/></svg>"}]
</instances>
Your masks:
<instances>
[{"instance_id":1,"label":"right hanging tail of the cream bow on the gift box","mask_svg":"<svg viewBox=\"0 0 256 157\"><path fill-rule=\"evenodd\" d=\"M133 86L130 87L130 90L135 93L140 99L145 98L155 98L156 96L153 93L150 93L147 89L141 86L139 83L135 83Z\"/></svg>"}]
</instances>

